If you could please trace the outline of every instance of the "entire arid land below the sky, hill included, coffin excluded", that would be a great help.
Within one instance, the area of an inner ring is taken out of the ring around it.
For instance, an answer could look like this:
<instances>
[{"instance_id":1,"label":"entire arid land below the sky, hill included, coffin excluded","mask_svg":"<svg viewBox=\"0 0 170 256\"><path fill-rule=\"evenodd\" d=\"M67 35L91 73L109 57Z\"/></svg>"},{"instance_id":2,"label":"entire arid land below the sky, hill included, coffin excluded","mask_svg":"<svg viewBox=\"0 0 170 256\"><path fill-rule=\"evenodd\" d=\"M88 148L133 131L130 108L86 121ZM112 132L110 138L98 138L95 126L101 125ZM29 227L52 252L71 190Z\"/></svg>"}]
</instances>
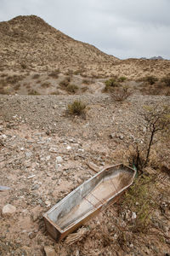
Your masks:
<instances>
[{"instance_id":1,"label":"entire arid land below the sky, hill included, coffin excluded","mask_svg":"<svg viewBox=\"0 0 170 256\"><path fill-rule=\"evenodd\" d=\"M36 16L0 35L0 255L170 255L170 61L118 60ZM99 170L137 162L119 201L49 236L43 213Z\"/></svg>"}]
</instances>

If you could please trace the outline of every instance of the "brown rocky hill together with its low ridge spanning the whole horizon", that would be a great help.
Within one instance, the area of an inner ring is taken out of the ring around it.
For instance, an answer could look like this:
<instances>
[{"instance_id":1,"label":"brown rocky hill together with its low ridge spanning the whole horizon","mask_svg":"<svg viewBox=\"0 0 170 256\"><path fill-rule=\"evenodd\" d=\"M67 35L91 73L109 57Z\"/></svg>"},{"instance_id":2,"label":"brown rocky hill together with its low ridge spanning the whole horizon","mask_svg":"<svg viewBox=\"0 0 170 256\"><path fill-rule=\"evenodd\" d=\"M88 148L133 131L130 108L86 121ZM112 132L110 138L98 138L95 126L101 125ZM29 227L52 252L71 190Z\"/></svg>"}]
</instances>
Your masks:
<instances>
[{"instance_id":1,"label":"brown rocky hill together with its low ridge spanning the whole horizon","mask_svg":"<svg viewBox=\"0 0 170 256\"><path fill-rule=\"evenodd\" d=\"M59 68L62 73L71 70L93 77L118 75L129 79L170 73L170 61L121 61L66 36L35 15L0 22L0 57L0 71L48 72Z\"/></svg>"}]
</instances>

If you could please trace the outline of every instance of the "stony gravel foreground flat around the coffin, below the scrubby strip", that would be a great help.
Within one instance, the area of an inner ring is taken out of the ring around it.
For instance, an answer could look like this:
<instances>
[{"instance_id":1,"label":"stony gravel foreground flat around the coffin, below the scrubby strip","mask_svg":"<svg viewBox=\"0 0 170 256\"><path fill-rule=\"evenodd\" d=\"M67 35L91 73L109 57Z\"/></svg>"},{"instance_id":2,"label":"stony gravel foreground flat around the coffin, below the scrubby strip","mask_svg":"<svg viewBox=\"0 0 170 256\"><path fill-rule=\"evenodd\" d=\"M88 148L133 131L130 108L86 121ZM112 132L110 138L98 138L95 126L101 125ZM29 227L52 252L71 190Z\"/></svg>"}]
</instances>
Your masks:
<instances>
[{"instance_id":1,"label":"stony gravel foreground flat around the coffin, below the scrubby strip","mask_svg":"<svg viewBox=\"0 0 170 256\"><path fill-rule=\"evenodd\" d=\"M87 104L86 117L65 113L75 99ZM123 201L89 221L82 240L72 245L56 243L42 220L42 213L94 175L88 162L98 168L129 165L130 148L144 137L143 106L158 102L169 105L170 97L133 95L120 103L107 94L0 96L0 185L10 187L0 191L0 255L169 255L170 177L157 168L148 168L156 176L151 186L157 202L149 232L131 230L138 214ZM162 148L167 169L168 147ZM12 212L5 212L8 204Z\"/></svg>"}]
</instances>

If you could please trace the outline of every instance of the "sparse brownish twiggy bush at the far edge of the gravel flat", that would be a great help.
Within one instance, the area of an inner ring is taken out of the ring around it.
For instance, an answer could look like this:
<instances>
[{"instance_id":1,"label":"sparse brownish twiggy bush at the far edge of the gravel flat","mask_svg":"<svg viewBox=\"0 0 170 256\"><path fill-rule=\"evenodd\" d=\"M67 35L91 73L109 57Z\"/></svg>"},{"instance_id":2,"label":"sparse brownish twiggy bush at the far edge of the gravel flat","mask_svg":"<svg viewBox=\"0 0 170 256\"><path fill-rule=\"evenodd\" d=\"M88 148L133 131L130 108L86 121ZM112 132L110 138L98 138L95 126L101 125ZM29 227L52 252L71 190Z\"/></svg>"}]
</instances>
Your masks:
<instances>
[{"instance_id":1,"label":"sparse brownish twiggy bush at the far edge of the gravel flat","mask_svg":"<svg viewBox=\"0 0 170 256\"><path fill-rule=\"evenodd\" d=\"M110 91L111 98L115 102L123 102L127 99L128 96L131 95L130 90L127 87L115 88L114 90Z\"/></svg>"}]
</instances>

